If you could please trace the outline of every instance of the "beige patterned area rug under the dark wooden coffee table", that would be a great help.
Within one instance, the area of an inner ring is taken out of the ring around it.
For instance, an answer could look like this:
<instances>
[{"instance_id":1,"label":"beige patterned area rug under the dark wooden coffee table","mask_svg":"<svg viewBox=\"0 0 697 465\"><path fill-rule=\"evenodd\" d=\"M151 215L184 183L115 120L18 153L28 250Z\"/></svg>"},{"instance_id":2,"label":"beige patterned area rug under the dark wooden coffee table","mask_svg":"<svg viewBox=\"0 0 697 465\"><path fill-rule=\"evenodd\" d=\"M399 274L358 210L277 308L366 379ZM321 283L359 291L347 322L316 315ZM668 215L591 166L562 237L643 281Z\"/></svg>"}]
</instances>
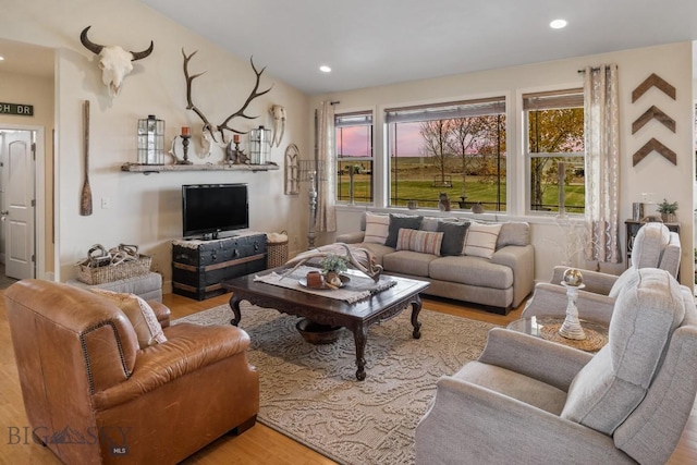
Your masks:
<instances>
[{"instance_id":1,"label":"beige patterned area rug under the dark wooden coffee table","mask_svg":"<svg viewBox=\"0 0 697 465\"><path fill-rule=\"evenodd\" d=\"M299 318L241 305L240 327L249 334L249 363L259 371L264 425L346 465L413 464L414 432L436 381L452 375L484 348L494 325L421 310L421 338L412 338L411 310L370 327L364 381L356 380L353 334L333 344L305 342ZM230 325L228 305L183 321Z\"/></svg>"}]
</instances>

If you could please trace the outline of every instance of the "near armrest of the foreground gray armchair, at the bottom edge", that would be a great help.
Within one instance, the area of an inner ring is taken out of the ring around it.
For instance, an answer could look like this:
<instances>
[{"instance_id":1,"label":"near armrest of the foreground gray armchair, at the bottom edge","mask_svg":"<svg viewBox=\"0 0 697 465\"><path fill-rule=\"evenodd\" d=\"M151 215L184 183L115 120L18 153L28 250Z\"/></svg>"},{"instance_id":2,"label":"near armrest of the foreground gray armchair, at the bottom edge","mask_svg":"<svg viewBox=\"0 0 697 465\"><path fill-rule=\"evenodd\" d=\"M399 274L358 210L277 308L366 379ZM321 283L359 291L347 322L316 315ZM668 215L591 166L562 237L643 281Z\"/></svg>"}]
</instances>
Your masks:
<instances>
[{"instance_id":1,"label":"near armrest of the foreground gray armchair, at the bottom edge","mask_svg":"<svg viewBox=\"0 0 697 465\"><path fill-rule=\"evenodd\" d=\"M416 463L634 463L612 438L451 377L416 428Z\"/></svg>"}]
</instances>

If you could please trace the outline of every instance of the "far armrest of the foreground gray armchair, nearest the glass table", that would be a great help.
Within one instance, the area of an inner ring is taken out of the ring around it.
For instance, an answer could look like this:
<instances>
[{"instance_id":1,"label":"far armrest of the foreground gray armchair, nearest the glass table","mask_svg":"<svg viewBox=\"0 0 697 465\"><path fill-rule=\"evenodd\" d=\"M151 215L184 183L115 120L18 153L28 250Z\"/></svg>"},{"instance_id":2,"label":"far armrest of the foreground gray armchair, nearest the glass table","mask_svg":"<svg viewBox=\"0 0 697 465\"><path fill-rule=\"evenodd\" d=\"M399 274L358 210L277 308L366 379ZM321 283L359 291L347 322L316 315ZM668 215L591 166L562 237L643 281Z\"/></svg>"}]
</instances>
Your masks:
<instances>
[{"instance_id":1,"label":"far armrest of the foreground gray armchair, nearest the glass table","mask_svg":"<svg viewBox=\"0 0 697 465\"><path fill-rule=\"evenodd\" d=\"M519 372L568 391L576 374L592 355L528 334L494 328L478 360Z\"/></svg>"}]
</instances>

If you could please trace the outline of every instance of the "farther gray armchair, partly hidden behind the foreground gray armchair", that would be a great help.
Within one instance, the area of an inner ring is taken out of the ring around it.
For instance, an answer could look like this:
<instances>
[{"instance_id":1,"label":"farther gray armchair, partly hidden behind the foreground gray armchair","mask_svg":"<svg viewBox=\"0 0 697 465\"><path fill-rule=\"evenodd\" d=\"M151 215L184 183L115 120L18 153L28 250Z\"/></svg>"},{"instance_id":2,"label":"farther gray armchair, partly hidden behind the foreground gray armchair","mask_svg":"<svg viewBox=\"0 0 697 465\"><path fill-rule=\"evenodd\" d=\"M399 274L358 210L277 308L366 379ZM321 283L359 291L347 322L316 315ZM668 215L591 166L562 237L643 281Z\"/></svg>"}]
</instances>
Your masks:
<instances>
[{"instance_id":1,"label":"farther gray armchair, partly hidden behind the foreground gray armchair","mask_svg":"<svg viewBox=\"0 0 697 465\"><path fill-rule=\"evenodd\" d=\"M663 223L646 223L634 238L632 262L620 277L590 270L582 270L583 290L578 291L576 307L583 319L608 323L612 315L614 299L623 285L625 273L640 268L659 268L677 277L681 259L680 235L669 231ZM564 316L566 311L566 290L560 285L568 267L554 267L549 283L537 283L533 297L525 305L523 317Z\"/></svg>"}]
</instances>

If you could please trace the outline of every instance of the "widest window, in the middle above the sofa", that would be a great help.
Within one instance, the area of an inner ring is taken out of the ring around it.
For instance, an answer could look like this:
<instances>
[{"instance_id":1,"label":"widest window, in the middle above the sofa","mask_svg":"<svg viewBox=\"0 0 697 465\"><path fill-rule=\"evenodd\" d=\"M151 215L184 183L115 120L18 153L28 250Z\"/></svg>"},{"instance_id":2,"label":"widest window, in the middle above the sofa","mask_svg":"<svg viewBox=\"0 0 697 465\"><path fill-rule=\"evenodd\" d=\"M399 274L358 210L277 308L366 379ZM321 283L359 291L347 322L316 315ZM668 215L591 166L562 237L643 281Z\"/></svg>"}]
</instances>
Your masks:
<instances>
[{"instance_id":1,"label":"widest window, in the middle above the sofa","mask_svg":"<svg viewBox=\"0 0 697 465\"><path fill-rule=\"evenodd\" d=\"M389 205L505 210L505 98L386 110Z\"/></svg>"}]
</instances>

